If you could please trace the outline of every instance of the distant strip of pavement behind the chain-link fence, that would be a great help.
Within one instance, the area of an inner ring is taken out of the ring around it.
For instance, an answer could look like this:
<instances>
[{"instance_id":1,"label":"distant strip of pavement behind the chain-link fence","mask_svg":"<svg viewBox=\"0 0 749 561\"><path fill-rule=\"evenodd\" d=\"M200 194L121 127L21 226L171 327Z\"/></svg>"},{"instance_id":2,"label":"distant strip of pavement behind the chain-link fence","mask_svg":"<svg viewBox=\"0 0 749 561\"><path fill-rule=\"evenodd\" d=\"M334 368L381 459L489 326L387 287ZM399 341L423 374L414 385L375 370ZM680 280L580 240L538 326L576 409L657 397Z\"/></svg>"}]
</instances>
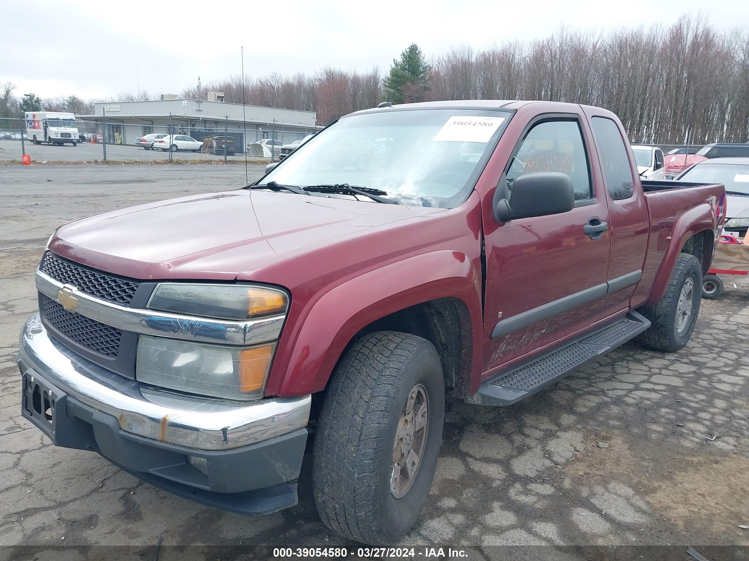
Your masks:
<instances>
[{"instance_id":1,"label":"distant strip of pavement behind the chain-link fence","mask_svg":"<svg viewBox=\"0 0 749 561\"><path fill-rule=\"evenodd\" d=\"M103 146L101 144L82 143L76 147L73 144L62 144L61 146L49 146L47 144L34 144L26 141L26 153L31 156L31 162L89 162L103 161ZM22 150L20 141L0 141L0 162L9 160L21 160ZM187 160L220 160L224 156L213 156L196 152L174 152L173 159ZM138 160L139 162L154 162L169 160L169 152L163 150L145 150L138 146L124 146L121 144L106 145L106 159L108 162L122 162ZM233 162L244 162L244 154L227 156Z\"/></svg>"}]
</instances>

